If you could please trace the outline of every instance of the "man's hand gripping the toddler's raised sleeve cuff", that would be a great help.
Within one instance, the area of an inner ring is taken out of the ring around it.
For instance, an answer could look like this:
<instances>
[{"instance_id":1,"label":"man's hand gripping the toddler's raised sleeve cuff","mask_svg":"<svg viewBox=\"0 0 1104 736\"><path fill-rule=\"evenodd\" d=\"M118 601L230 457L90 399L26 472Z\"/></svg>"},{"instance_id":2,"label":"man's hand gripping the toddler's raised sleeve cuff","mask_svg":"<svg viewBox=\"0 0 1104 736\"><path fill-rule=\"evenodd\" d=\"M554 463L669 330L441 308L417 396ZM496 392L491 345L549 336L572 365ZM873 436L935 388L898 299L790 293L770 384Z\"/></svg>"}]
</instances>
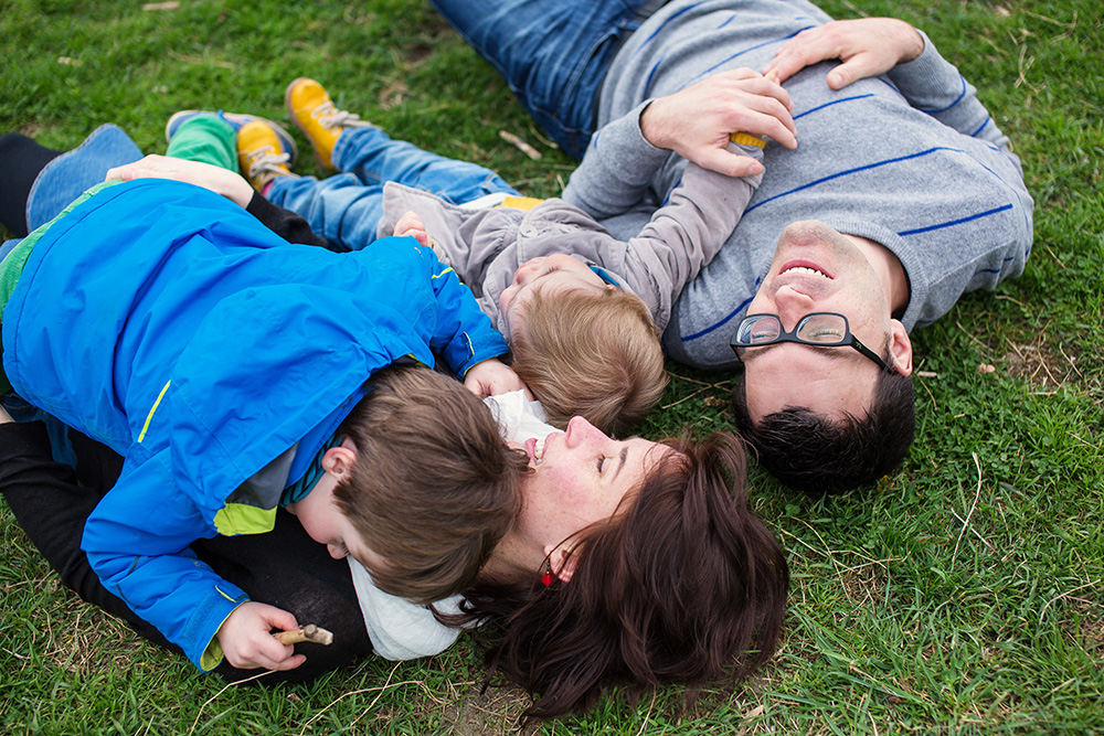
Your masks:
<instances>
[{"instance_id":1,"label":"man's hand gripping the toddler's raised sleeve cuff","mask_svg":"<svg viewBox=\"0 0 1104 736\"><path fill-rule=\"evenodd\" d=\"M654 100L640 115L640 131L657 148L667 148L698 166L728 174L761 173L762 164L725 149L729 135L747 132L797 148L789 93L749 68L714 74L686 89Z\"/></svg>"}]
</instances>

